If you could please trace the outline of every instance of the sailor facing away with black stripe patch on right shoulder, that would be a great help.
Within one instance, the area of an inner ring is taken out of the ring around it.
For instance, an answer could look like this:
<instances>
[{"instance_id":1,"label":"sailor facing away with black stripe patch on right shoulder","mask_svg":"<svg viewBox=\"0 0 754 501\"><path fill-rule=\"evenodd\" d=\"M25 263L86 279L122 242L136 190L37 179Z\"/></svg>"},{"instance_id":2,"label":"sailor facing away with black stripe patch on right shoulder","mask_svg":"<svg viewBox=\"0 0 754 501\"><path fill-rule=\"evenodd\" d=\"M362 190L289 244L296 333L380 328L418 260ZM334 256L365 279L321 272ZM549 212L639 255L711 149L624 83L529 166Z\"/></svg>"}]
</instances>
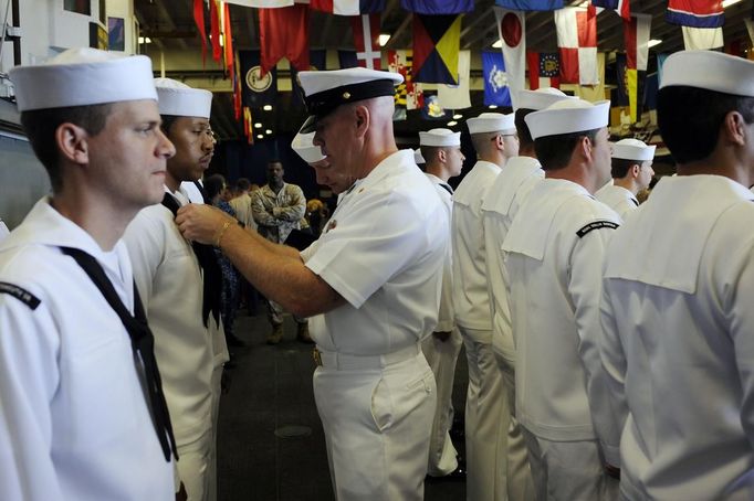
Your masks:
<instances>
[{"instance_id":1,"label":"sailor facing away with black stripe patch on right shoulder","mask_svg":"<svg viewBox=\"0 0 754 501\"><path fill-rule=\"evenodd\" d=\"M545 179L503 242L515 411L541 500L617 493L607 477L618 450L604 439L612 416L597 342L601 263L620 218L591 196L610 177L609 105L563 99L525 117Z\"/></svg>"}]
</instances>

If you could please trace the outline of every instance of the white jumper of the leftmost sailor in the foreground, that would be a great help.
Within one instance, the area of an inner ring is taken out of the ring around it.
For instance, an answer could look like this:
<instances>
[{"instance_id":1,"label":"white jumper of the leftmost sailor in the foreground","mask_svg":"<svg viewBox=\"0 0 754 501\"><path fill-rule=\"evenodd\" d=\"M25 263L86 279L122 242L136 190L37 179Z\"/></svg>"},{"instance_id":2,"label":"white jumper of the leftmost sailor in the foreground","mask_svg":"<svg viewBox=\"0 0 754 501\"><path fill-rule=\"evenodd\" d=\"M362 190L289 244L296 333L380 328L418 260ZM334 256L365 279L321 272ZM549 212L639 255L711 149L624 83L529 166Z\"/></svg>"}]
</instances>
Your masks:
<instances>
[{"instance_id":1,"label":"white jumper of the leftmost sailor in the foreground","mask_svg":"<svg viewBox=\"0 0 754 501\"><path fill-rule=\"evenodd\" d=\"M102 292L60 246L103 266L133 312L123 243L103 252L46 199L0 244L0 499L172 500L130 338Z\"/></svg>"}]
</instances>

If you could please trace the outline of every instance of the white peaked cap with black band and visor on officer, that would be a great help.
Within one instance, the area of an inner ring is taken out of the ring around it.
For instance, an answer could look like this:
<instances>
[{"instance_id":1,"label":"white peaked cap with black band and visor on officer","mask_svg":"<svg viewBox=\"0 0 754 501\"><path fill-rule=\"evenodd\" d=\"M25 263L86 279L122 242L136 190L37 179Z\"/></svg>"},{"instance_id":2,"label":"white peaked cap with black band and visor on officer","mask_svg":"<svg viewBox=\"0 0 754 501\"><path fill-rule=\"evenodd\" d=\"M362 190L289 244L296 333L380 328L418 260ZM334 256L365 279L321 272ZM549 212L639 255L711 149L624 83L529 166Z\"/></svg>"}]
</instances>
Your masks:
<instances>
[{"instance_id":1,"label":"white peaked cap with black band and visor on officer","mask_svg":"<svg viewBox=\"0 0 754 501\"><path fill-rule=\"evenodd\" d=\"M304 103L310 117L301 132L314 131L316 120L348 103L395 95L395 86L404 82L399 73L349 67L332 72L299 72Z\"/></svg>"}]
</instances>

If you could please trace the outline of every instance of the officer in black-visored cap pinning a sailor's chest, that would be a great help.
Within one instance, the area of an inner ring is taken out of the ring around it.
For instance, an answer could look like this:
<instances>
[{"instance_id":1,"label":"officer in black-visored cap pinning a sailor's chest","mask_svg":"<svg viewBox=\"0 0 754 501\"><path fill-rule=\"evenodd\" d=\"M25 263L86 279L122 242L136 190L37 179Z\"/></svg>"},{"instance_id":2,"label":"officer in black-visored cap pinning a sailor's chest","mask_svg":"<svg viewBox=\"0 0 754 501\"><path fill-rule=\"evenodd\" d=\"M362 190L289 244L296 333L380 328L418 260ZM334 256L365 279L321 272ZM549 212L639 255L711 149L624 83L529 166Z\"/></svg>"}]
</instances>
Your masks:
<instances>
[{"instance_id":1,"label":"officer in black-visored cap pinning a sailor's chest","mask_svg":"<svg viewBox=\"0 0 754 501\"><path fill-rule=\"evenodd\" d=\"M300 72L328 169L352 183L305 250L250 234L220 211L181 207L190 239L222 248L266 297L311 317L314 395L336 497L423 499L436 385L420 342L437 324L448 216L392 134L400 75ZM338 179L338 178L336 178Z\"/></svg>"}]
</instances>

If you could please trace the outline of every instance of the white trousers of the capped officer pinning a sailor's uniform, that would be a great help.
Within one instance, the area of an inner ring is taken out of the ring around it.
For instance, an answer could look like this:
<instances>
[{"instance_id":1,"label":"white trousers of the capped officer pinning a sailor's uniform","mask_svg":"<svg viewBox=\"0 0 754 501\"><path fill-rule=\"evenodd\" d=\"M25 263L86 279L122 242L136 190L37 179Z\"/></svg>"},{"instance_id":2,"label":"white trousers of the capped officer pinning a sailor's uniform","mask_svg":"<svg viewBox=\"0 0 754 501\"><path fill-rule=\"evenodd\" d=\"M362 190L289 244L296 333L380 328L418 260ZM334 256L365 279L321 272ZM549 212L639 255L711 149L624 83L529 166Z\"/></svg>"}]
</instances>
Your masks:
<instances>
[{"instance_id":1,"label":"white trousers of the capped officer pinning a sailor's uniform","mask_svg":"<svg viewBox=\"0 0 754 501\"><path fill-rule=\"evenodd\" d=\"M338 501L423 500L436 387L425 356L413 353L381 369L352 360L314 372Z\"/></svg>"}]
</instances>

